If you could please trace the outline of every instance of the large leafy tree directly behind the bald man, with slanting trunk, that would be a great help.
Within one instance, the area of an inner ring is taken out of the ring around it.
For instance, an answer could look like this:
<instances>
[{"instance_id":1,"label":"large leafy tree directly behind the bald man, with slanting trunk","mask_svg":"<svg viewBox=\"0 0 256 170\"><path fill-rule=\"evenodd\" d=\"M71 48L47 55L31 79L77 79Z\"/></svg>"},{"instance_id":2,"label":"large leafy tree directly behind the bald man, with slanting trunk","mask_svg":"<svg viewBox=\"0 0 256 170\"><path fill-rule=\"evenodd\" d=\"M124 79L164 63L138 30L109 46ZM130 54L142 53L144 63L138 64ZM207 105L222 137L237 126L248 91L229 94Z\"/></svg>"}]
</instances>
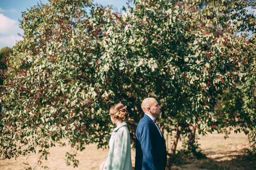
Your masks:
<instances>
[{"instance_id":1,"label":"large leafy tree directly behind the bald man, with slanting trunk","mask_svg":"<svg viewBox=\"0 0 256 170\"><path fill-rule=\"evenodd\" d=\"M109 88L114 94L127 92L135 101L156 97L163 105L161 126L167 133L172 132L172 125L177 126L169 150L169 168L179 136L188 133L191 125L202 134L217 130L217 99L225 89L236 86L248 64L244 59L251 45L232 46L246 42L236 35L241 25L233 13L253 4L233 1L227 6L226 2L207 1L200 11L201 3L135 1L135 9L129 11L128 17L119 19L115 29L109 29L105 45L103 57L105 64L110 65L105 72L110 72L111 80L116 80L116 67L120 64L118 82L123 88L115 91L112 82ZM229 17L224 20L227 14ZM231 21L234 26L228 24ZM255 17L251 22L255 22ZM135 122L141 113L139 104L130 105L138 110Z\"/></svg>"}]
</instances>

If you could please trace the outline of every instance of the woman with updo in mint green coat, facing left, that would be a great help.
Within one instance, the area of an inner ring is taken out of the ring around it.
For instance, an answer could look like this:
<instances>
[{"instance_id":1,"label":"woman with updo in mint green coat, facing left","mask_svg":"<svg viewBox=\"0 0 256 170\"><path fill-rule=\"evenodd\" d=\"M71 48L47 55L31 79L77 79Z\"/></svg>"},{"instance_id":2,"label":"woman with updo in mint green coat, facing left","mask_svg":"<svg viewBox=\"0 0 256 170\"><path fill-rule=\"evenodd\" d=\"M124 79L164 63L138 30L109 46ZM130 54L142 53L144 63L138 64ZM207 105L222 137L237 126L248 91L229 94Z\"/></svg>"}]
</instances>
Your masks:
<instances>
[{"instance_id":1,"label":"woman with updo in mint green coat, facing left","mask_svg":"<svg viewBox=\"0 0 256 170\"><path fill-rule=\"evenodd\" d=\"M99 170L132 170L130 133L124 122L128 111L121 103L110 108L110 117L114 128L109 140L107 159L99 166Z\"/></svg>"}]
</instances>

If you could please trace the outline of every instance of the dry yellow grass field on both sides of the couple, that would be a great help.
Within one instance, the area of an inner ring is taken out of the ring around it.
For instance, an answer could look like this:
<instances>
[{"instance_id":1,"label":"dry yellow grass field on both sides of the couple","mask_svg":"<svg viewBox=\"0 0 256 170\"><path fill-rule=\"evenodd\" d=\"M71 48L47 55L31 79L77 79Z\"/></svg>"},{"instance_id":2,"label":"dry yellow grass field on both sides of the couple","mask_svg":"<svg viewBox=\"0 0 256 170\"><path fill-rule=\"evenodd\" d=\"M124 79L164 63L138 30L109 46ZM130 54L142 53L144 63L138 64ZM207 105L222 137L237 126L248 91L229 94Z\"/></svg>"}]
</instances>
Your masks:
<instances>
[{"instance_id":1,"label":"dry yellow grass field on both sides of the couple","mask_svg":"<svg viewBox=\"0 0 256 170\"><path fill-rule=\"evenodd\" d=\"M226 140L223 134L213 133L200 137L198 142L202 152L207 159L197 160L195 158L181 157L180 164L174 164L172 170L256 170L256 161L249 160L245 155L245 149L249 148L247 136L243 133L231 133ZM178 150L182 149L181 142ZM70 146L59 146L50 148L47 161L43 161L49 170L97 170L98 166L106 158L108 149L97 149L95 144L88 145L84 151L78 152L77 159L79 167L66 166L65 155ZM0 160L0 170L21 170L26 164L37 161L37 154L29 157L18 157L10 160ZM132 164L135 164L135 150L132 150Z\"/></svg>"}]
</instances>

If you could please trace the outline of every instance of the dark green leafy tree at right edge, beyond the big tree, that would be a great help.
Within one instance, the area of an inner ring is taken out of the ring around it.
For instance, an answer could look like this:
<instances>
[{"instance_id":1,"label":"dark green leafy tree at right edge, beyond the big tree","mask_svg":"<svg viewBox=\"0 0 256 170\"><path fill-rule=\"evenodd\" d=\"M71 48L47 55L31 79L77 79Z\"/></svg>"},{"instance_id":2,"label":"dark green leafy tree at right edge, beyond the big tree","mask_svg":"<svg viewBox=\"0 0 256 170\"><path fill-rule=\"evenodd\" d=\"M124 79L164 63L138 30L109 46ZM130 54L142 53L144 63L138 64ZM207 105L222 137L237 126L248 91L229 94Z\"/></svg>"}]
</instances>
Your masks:
<instances>
[{"instance_id":1,"label":"dark green leafy tree at right edge, beyond the big tree","mask_svg":"<svg viewBox=\"0 0 256 170\"><path fill-rule=\"evenodd\" d=\"M235 132L245 132L248 134L251 148L249 154L256 154L256 99L255 99L255 35L239 46L246 52L245 58L247 63L250 63L245 68L246 73L241 83L236 87L226 90L222 95L220 106L217 109L219 124L224 132L228 133L227 127L232 126ZM247 44L244 46L244 44Z\"/></svg>"}]
</instances>

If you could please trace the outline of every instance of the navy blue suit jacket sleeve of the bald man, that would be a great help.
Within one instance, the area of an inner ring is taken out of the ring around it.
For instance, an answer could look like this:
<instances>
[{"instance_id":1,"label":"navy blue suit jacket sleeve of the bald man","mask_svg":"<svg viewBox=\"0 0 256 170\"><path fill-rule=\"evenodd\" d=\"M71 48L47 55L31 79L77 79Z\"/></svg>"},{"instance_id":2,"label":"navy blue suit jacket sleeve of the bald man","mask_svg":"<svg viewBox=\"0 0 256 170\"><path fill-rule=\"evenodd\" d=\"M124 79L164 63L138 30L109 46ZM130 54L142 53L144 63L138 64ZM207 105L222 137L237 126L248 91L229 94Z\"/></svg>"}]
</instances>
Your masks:
<instances>
[{"instance_id":1,"label":"navy blue suit jacket sleeve of the bald man","mask_svg":"<svg viewBox=\"0 0 256 170\"><path fill-rule=\"evenodd\" d=\"M157 157L154 154L152 144L152 139L154 138L154 135L156 134L153 134L152 125L149 122L141 123L138 137L141 143L143 157L151 170L158 170L159 168L157 167L156 163Z\"/></svg>"}]
</instances>

